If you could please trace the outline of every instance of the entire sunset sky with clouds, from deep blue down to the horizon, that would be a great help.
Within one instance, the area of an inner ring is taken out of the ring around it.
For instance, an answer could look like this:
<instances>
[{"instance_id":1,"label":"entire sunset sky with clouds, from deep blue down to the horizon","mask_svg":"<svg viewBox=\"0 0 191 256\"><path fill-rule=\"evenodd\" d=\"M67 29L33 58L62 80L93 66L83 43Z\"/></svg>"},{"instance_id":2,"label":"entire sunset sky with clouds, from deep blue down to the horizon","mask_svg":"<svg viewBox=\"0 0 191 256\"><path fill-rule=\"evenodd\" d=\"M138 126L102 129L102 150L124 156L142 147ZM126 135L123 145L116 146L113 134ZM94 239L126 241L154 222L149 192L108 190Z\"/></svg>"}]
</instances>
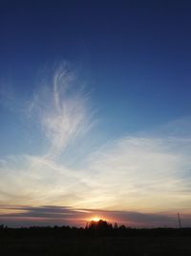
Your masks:
<instances>
[{"instance_id":1,"label":"entire sunset sky with clouds, from deep blue down to the horizon","mask_svg":"<svg viewBox=\"0 0 191 256\"><path fill-rule=\"evenodd\" d=\"M0 222L191 226L191 3L0 1Z\"/></svg>"}]
</instances>

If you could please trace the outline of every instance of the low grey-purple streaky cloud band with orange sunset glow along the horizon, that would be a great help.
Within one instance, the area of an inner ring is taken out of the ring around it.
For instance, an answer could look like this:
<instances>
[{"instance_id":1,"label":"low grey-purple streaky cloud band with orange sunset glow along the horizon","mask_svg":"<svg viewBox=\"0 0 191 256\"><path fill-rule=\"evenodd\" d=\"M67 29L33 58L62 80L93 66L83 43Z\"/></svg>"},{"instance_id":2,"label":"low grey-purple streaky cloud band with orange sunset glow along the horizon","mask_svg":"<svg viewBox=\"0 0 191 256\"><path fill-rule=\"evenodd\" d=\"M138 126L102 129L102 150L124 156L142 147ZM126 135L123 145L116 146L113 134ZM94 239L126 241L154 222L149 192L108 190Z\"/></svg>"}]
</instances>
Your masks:
<instances>
[{"instance_id":1,"label":"low grey-purple streaky cloud band with orange sunset glow along the horizon","mask_svg":"<svg viewBox=\"0 0 191 256\"><path fill-rule=\"evenodd\" d=\"M99 210L99 209L78 209L68 206L14 206L2 207L9 213L1 212L0 220L6 221L9 225L13 221L23 222L29 221L34 224L41 219L41 224L52 224L53 220L59 224L77 224L83 225L94 216L100 216L102 220L109 222L117 222L118 224L126 224L134 227L161 227L170 226L177 227L177 215L172 213L147 213L136 211L115 211L115 210ZM181 221L184 225L190 226L191 222L187 215L181 215Z\"/></svg>"}]
</instances>

